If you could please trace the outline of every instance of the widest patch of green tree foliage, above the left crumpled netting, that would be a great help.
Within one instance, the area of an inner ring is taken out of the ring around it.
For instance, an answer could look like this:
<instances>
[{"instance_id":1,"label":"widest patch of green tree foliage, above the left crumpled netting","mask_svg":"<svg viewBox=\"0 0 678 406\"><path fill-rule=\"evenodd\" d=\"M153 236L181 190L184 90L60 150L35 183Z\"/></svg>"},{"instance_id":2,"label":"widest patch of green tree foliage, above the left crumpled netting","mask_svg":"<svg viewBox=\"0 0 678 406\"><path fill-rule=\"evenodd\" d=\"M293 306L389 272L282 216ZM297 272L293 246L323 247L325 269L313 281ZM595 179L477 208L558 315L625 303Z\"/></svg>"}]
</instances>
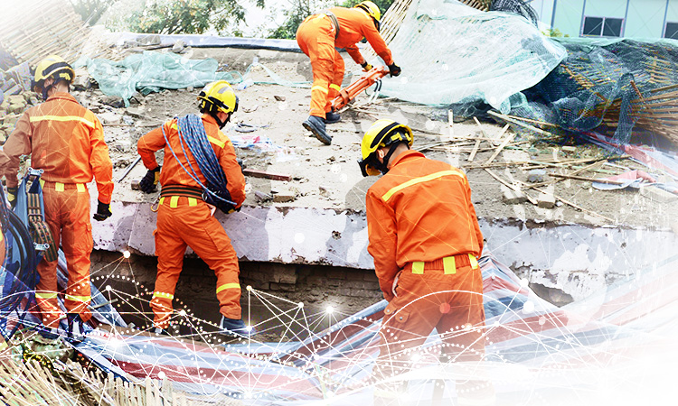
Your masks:
<instances>
[{"instance_id":1,"label":"widest patch of green tree foliage, above the left crumpled netting","mask_svg":"<svg viewBox=\"0 0 678 406\"><path fill-rule=\"evenodd\" d=\"M259 7L264 0L256 0ZM124 25L133 32L202 33L208 29L223 31L245 19L245 8L233 0L150 0L143 10L124 17Z\"/></svg>"}]
</instances>

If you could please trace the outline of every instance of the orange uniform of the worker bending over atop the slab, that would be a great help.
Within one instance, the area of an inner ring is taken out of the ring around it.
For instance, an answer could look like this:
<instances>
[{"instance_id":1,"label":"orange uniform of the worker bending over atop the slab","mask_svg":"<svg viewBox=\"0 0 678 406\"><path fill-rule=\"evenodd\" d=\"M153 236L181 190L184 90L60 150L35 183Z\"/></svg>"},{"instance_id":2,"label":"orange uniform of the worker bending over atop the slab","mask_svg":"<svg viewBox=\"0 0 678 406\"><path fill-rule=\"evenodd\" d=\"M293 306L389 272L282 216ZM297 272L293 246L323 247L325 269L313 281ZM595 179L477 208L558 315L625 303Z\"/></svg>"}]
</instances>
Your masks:
<instances>
[{"instance_id":1,"label":"orange uniform of the worker bending over atop the slab","mask_svg":"<svg viewBox=\"0 0 678 406\"><path fill-rule=\"evenodd\" d=\"M322 13L306 17L297 29L297 43L311 58L313 69L310 115L323 118L330 111L334 97L339 95L344 80L344 59L335 48L344 48L355 63L362 65L365 59L355 44L364 37L387 65L393 63L391 51L371 16L359 8L333 7L328 11L339 23L338 35L332 19Z\"/></svg>"}]
</instances>

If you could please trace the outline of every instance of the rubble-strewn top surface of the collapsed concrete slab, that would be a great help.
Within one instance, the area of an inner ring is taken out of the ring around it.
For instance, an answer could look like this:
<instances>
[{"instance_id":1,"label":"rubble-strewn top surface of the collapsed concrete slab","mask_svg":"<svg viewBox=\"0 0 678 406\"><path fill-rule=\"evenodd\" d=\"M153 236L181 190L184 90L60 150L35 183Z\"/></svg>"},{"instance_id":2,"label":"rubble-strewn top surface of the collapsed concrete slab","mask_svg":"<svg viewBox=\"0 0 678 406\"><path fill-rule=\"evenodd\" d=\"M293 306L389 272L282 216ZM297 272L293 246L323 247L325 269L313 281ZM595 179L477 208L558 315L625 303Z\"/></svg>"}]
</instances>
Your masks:
<instances>
[{"instance_id":1,"label":"rubble-strewn top surface of the collapsed concrete slab","mask_svg":"<svg viewBox=\"0 0 678 406\"><path fill-rule=\"evenodd\" d=\"M245 72L252 61L258 60L289 81L312 80L310 62L302 53L205 48L191 50L191 58L214 58L222 70L239 72ZM361 71L347 55L344 60L347 67L344 86L347 86ZM406 75L404 72L403 76ZM261 67L253 67L250 78L255 82L272 80ZM236 88L239 87L236 85ZM163 90L146 97L137 95L127 108L104 96L96 87L74 93L104 123L115 167L114 179L118 180L137 158L138 138L174 116L196 113L199 91L200 88L187 88ZM476 123L467 119L450 125L447 108L414 105L391 98L370 103L370 95L363 94L342 112L339 123L327 125L328 134L333 136L332 144L327 146L301 125L308 115L308 88L254 84L236 92L240 107L224 133L236 144L250 143L248 148L236 148L236 153L249 169L291 178L281 181L248 177L245 205L364 210L365 192L376 178L361 175L356 163L360 158L360 141L376 119L391 118L410 125L415 135L414 148L423 150L430 158L465 169L479 217L660 229L672 225L678 218L675 199L665 193L654 193L655 188L603 191L593 189L588 180L562 178L548 184L557 179L551 177L551 173L567 175L585 167L589 168L576 174L584 178L604 178L629 170L647 171L630 159L614 159L598 146L566 135L545 136L516 125L503 132L504 122L499 120ZM477 168L515 131L519 134L496 155L492 161L494 166ZM469 161L474 151L473 161ZM158 152L159 159L161 155L162 152ZM610 159L604 161L606 158ZM525 161L532 163L510 163ZM125 180L117 183L114 199L153 202L157 194L145 195L130 187L132 180L140 179L145 173L143 165L138 164ZM538 189L531 189L532 186ZM527 196L516 194L515 189Z\"/></svg>"}]
</instances>

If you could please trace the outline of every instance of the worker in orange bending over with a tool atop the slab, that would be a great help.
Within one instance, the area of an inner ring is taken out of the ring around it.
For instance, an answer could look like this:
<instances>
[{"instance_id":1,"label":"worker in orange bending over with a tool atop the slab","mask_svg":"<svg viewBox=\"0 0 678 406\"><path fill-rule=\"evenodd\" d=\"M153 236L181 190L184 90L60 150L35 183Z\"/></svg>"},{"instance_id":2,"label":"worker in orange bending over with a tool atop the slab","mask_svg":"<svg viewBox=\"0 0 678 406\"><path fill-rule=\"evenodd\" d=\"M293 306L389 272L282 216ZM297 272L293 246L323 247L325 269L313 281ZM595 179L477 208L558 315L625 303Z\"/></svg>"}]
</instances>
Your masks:
<instances>
[{"instance_id":1,"label":"worker in orange bending over with a tool atop the slab","mask_svg":"<svg viewBox=\"0 0 678 406\"><path fill-rule=\"evenodd\" d=\"M379 33L381 11L372 2L365 1L353 8L333 7L306 17L297 29L297 43L311 58L313 86L310 115L304 128L321 142L329 145L332 137L325 132L325 124L338 122L341 117L332 111L332 100L339 95L344 80L344 59L335 48L344 48L365 71L372 69L358 51L357 42L363 38L388 65L391 76L400 75L391 51Z\"/></svg>"}]
</instances>

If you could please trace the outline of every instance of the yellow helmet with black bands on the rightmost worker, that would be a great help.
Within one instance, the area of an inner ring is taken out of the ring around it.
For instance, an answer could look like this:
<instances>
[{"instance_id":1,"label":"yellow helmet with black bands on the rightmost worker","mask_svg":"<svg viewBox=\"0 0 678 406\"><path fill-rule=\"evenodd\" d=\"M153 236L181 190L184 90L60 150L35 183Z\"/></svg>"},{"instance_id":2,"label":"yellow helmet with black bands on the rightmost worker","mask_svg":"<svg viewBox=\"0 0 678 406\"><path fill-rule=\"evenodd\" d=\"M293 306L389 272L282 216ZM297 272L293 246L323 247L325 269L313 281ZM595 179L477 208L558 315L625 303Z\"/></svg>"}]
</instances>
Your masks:
<instances>
[{"instance_id":1,"label":"yellow helmet with black bands on the rightmost worker","mask_svg":"<svg viewBox=\"0 0 678 406\"><path fill-rule=\"evenodd\" d=\"M377 176L380 173L386 173L388 171L389 158L391 158L391 153L394 150L391 149L386 154L383 163L377 159L376 152L382 147L399 142L405 142L408 146L412 146L414 136L409 126L401 125L389 119L375 121L363 136L363 142L361 143L363 159L358 161L358 164L363 172L363 176Z\"/></svg>"}]
</instances>

